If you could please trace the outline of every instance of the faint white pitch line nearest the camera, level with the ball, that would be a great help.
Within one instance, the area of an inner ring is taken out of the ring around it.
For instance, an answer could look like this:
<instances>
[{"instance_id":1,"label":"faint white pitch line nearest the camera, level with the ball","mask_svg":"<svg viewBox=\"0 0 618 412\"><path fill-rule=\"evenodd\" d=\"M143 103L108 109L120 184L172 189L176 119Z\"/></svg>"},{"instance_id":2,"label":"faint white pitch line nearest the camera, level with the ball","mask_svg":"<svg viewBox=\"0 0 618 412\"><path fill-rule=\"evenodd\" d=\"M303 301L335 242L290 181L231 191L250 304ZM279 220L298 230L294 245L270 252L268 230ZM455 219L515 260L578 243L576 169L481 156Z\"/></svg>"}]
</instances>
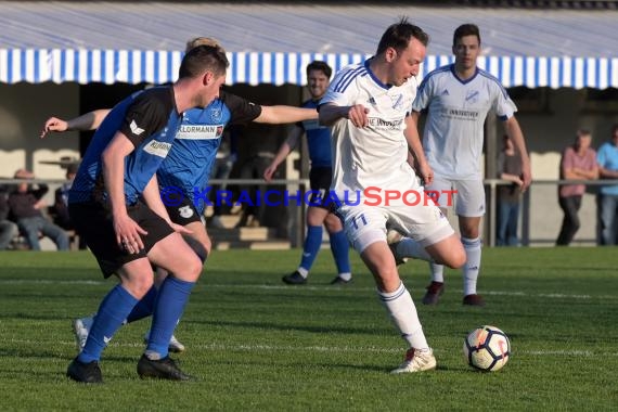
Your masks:
<instances>
[{"instance_id":1,"label":"faint white pitch line nearest the camera, level with the ball","mask_svg":"<svg viewBox=\"0 0 618 412\"><path fill-rule=\"evenodd\" d=\"M39 345L40 342L27 340L27 339L1 339L3 343L11 343L17 345ZM75 347L74 340L56 340L55 344L63 346ZM112 342L108 346L119 347L119 348L143 348L142 343L114 343ZM222 350L222 351L311 351L311 352L369 352L369 353L402 353L404 348L378 348L375 346L279 346L279 345L223 345L223 344L197 344L191 345L191 348L203 349L203 350ZM445 350L434 349L435 352L446 352ZM533 356L533 357L579 357L579 358L590 358L590 357L618 357L618 352L600 352L593 350L513 350L514 356Z\"/></svg>"}]
</instances>

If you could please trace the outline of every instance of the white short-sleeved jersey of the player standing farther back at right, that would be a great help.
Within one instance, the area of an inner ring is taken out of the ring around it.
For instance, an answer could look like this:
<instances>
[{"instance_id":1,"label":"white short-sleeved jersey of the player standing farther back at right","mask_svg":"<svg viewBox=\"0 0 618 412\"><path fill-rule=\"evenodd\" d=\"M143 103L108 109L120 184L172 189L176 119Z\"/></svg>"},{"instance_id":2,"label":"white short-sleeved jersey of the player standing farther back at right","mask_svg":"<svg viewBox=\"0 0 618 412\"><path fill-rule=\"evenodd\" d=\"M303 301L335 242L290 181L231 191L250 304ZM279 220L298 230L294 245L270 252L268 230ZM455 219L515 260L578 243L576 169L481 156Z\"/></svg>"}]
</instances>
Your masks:
<instances>
[{"instance_id":1,"label":"white short-sleeved jersey of the player standing farther back at right","mask_svg":"<svg viewBox=\"0 0 618 412\"><path fill-rule=\"evenodd\" d=\"M484 124L489 111L495 111L502 120L517 111L495 77L477 68L472 78L461 80L453 64L423 79L412 108L428 110L425 156L436 176L453 180L482 178Z\"/></svg>"}]
</instances>

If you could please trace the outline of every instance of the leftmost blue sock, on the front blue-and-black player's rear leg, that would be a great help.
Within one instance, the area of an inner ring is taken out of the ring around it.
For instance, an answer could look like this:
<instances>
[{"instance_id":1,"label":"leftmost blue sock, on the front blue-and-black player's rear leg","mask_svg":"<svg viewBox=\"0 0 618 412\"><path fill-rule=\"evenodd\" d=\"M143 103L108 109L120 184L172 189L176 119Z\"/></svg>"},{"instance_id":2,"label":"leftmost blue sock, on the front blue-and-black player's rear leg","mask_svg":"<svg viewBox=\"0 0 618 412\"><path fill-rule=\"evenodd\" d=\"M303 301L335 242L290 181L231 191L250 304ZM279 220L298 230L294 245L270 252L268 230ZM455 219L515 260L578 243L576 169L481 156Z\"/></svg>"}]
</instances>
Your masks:
<instances>
[{"instance_id":1,"label":"leftmost blue sock, on the front blue-and-black player's rear leg","mask_svg":"<svg viewBox=\"0 0 618 412\"><path fill-rule=\"evenodd\" d=\"M123 325L137 302L138 299L121 285L116 285L110 291L99 306L86 346L77 359L85 363L101 359L103 349Z\"/></svg>"}]
</instances>

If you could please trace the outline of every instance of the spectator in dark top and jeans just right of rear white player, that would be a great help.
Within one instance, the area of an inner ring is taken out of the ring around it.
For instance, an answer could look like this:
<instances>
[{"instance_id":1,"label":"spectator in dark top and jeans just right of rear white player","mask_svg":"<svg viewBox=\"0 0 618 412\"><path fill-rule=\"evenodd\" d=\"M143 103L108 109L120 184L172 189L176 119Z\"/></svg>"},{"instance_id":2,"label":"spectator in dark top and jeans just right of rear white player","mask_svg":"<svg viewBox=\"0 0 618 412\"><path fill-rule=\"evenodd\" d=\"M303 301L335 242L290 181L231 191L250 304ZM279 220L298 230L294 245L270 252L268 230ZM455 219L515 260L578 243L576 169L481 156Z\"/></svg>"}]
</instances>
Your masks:
<instances>
[{"instance_id":1,"label":"spectator in dark top and jeans just right of rear white player","mask_svg":"<svg viewBox=\"0 0 618 412\"><path fill-rule=\"evenodd\" d=\"M498 156L499 178L511 184L498 186L498 227L495 244L498 246L517 246L517 221L522 195L522 156L515 149L508 134L503 137L504 146Z\"/></svg>"}]
</instances>

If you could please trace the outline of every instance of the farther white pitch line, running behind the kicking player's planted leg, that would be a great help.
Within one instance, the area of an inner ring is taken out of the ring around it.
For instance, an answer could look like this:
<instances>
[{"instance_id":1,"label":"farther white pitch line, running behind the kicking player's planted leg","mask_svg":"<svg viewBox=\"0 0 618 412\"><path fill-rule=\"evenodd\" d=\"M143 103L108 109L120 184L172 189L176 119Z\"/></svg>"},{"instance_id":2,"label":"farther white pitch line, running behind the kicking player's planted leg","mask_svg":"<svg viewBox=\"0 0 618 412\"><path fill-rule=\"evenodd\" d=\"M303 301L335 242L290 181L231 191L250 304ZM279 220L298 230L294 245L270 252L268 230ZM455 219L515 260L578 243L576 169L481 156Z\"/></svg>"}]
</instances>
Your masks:
<instances>
[{"instance_id":1,"label":"farther white pitch line, running behind the kicking player's planted leg","mask_svg":"<svg viewBox=\"0 0 618 412\"><path fill-rule=\"evenodd\" d=\"M7 285L21 285L21 284L57 284L57 285L102 285L106 284L108 281L87 281L87 280L77 280L77 281L52 281L48 279L0 279L0 284ZM255 284L239 284L239 285L231 285L231 284L208 284L202 283L205 287L211 288L236 288L236 289L265 289L265 291L320 291L320 292L375 292L375 287L355 287L353 285L346 285L344 287L333 287L330 285L321 285L321 286L309 286L302 285L300 287L288 286L288 285L255 285ZM414 289L412 289L414 291ZM455 291L462 293L462 289ZM592 296L592 295L569 295L569 294L558 294L558 293L551 293L551 294L530 294L526 292L518 292L518 291L482 291L482 295L493 295L493 296L522 296L522 297L543 297L549 299L618 299L618 295L600 295L600 296Z\"/></svg>"}]
</instances>

